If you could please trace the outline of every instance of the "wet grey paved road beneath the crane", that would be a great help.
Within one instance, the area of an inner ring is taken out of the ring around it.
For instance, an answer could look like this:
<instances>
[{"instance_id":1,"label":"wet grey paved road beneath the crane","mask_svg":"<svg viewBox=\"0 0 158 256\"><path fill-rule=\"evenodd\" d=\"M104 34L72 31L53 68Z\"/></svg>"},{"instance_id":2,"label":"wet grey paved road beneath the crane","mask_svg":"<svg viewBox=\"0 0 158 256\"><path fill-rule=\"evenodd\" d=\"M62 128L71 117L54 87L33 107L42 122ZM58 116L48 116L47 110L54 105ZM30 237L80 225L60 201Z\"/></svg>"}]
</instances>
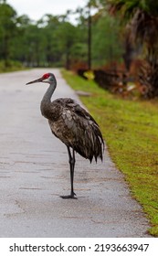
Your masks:
<instances>
[{"instance_id":1,"label":"wet grey paved road beneath the crane","mask_svg":"<svg viewBox=\"0 0 158 256\"><path fill-rule=\"evenodd\" d=\"M58 69L54 97L77 98ZM47 69L0 75L0 237L149 237L142 208L105 152L90 165L77 155L69 193L68 155L40 114L47 85L25 86Z\"/></svg>"}]
</instances>

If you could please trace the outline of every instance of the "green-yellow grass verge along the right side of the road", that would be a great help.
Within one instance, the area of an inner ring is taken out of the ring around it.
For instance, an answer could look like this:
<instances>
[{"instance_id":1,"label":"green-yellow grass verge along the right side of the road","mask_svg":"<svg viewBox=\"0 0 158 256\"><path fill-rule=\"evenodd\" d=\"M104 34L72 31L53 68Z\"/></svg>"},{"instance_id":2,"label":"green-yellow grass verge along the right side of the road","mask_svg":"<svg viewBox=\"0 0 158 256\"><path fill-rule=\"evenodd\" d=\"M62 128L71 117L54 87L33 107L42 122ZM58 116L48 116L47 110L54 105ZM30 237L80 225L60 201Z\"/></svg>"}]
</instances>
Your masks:
<instances>
[{"instance_id":1,"label":"green-yellow grass verge along the right side of the road","mask_svg":"<svg viewBox=\"0 0 158 256\"><path fill-rule=\"evenodd\" d=\"M74 90L91 93L80 99L100 124L112 161L150 219L149 232L158 237L158 102L122 100L92 80L66 70L62 74Z\"/></svg>"}]
</instances>

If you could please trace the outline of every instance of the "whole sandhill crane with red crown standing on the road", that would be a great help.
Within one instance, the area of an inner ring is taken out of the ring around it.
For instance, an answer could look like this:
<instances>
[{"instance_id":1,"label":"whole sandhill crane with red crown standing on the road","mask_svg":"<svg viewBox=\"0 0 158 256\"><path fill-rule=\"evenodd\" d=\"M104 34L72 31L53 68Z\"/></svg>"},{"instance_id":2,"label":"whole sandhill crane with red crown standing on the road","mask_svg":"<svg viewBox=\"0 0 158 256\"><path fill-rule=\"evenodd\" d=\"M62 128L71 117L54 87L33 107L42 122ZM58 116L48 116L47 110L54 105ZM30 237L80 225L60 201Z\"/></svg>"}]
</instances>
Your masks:
<instances>
[{"instance_id":1,"label":"whole sandhill crane with red crown standing on the road","mask_svg":"<svg viewBox=\"0 0 158 256\"><path fill-rule=\"evenodd\" d=\"M57 80L52 73L44 74L37 80L26 84L45 82L49 87L41 101L40 110L47 118L51 132L66 144L68 149L71 191L68 196L62 198L77 198L73 189L75 152L84 158L94 157L102 160L104 141L98 123L89 112L84 110L76 101L69 98L59 98L51 101L53 92L57 87Z\"/></svg>"}]
</instances>

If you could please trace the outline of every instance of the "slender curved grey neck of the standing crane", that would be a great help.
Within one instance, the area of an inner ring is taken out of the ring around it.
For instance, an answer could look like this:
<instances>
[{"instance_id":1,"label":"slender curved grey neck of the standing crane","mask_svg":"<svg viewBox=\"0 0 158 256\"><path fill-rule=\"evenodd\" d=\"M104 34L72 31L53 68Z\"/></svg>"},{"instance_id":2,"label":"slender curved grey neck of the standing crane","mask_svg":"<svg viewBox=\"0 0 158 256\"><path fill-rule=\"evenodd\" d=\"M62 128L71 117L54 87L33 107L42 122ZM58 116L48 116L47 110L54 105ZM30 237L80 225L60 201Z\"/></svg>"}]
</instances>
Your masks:
<instances>
[{"instance_id":1,"label":"slender curved grey neck of the standing crane","mask_svg":"<svg viewBox=\"0 0 158 256\"><path fill-rule=\"evenodd\" d=\"M41 112L44 116L47 117L47 112L49 112L49 107L51 103L51 96L53 95L54 91L56 90L57 87L57 81L53 80L49 87L47 88L47 91L41 101L40 109Z\"/></svg>"}]
</instances>

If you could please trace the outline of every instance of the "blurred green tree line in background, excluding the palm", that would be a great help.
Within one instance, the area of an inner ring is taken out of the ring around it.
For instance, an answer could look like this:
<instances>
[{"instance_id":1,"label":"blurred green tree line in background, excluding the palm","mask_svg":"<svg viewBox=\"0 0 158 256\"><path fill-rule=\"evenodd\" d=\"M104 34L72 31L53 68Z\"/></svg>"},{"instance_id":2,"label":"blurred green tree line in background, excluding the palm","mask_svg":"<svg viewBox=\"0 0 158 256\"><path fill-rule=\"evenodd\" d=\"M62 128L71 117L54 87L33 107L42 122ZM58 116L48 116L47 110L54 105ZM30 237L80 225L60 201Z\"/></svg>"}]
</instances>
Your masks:
<instances>
[{"instance_id":1,"label":"blurred green tree line in background, excluding the palm","mask_svg":"<svg viewBox=\"0 0 158 256\"><path fill-rule=\"evenodd\" d=\"M100 67L112 59L121 60L122 45L116 18L100 12L94 2L91 58L93 66ZM70 12L63 16L46 14L35 22L26 15L17 16L7 1L0 1L0 60L5 60L5 66L12 59L30 67L86 67L88 10L85 6L76 11L75 25L69 21Z\"/></svg>"}]
</instances>

